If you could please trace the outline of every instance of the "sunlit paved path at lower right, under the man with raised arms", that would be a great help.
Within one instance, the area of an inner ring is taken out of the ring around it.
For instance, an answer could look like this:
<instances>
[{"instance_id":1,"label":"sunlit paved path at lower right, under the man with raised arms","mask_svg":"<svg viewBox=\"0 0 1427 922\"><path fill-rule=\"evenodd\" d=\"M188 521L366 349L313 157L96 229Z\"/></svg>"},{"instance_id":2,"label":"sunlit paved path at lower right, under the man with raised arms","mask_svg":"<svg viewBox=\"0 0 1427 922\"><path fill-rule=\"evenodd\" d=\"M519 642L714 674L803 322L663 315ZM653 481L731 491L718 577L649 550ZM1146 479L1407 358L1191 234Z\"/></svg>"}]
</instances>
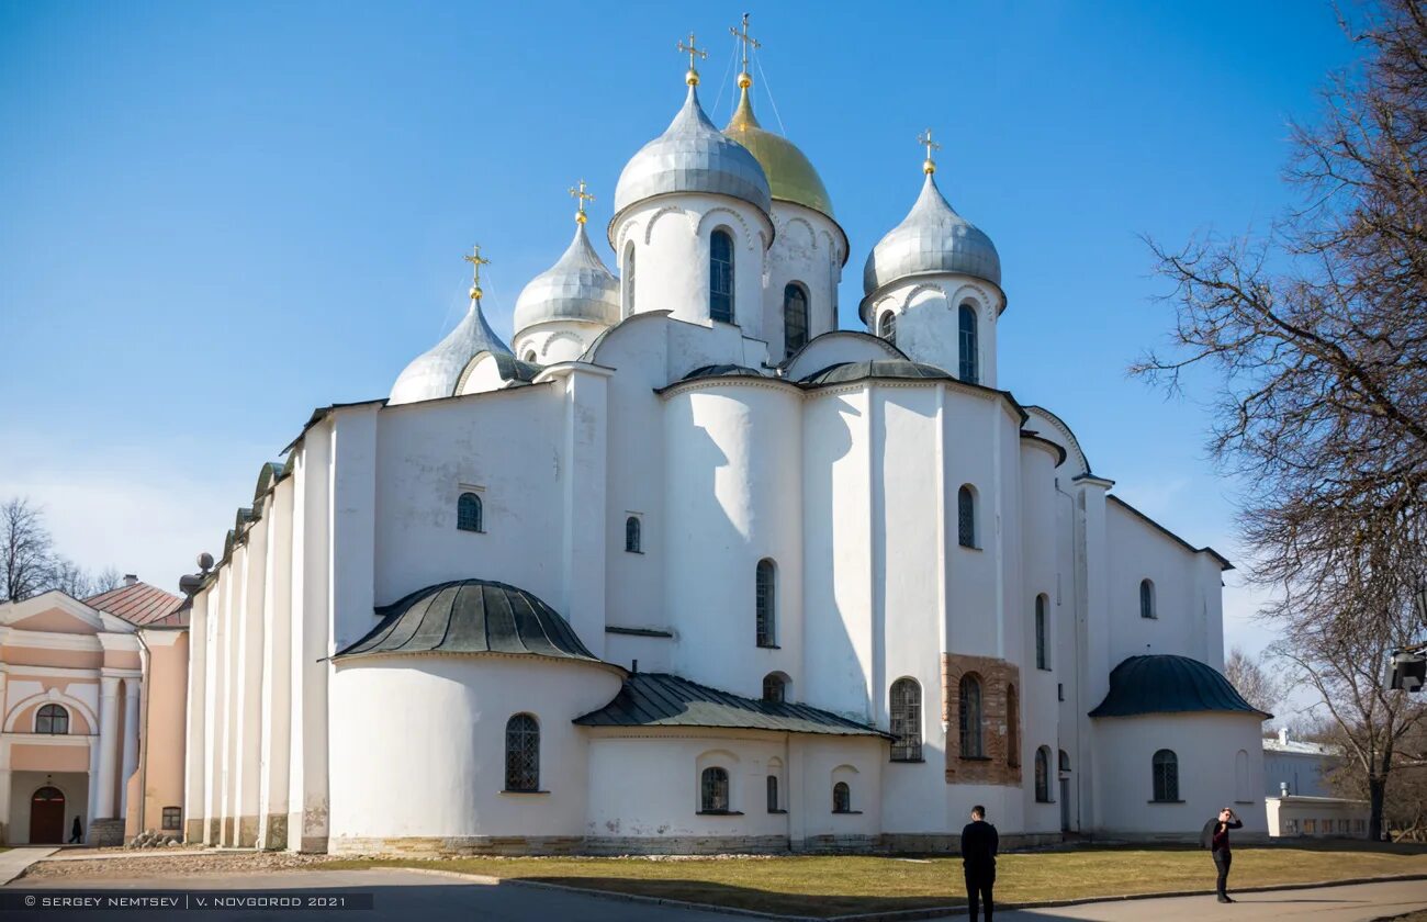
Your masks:
<instances>
[{"instance_id":1,"label":"sunlit paved path at lower right, under the man with raised arms","mask_svg":"<svg viewBox=\"0 0 1427 922\"><path fill-rule=\"evenodd\" d=\"M1219 905L1212 895L1167 899L1122 899L1086 903L1063 909L1023 909L997 912L1000 922L1052 922L1053 919L1093 919L1095 922L1267 922L1269 919L1304 919L1306 922L1370 922L1414 909L1427 909L1427 881L1323 886L1311 891L1274 891L1241 893L1239 902ZM960 919L966 916L948 916Z\"/></svg>"}]
</instances>

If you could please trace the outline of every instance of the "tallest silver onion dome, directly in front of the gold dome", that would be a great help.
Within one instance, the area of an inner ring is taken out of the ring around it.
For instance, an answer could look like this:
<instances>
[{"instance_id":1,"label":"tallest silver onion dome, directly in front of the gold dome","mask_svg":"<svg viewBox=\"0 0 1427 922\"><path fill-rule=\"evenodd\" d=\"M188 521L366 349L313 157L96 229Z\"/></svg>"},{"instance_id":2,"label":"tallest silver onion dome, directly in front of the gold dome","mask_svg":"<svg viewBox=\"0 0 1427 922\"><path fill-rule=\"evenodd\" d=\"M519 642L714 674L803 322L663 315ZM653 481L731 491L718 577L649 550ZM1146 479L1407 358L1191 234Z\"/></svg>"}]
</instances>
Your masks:
<instances>
[{"instance_id":1,"label":"tallest silver onion dome, directly in front of the gold dome","mask_svg":"<svg viewBox=\"0 0 1427 922\"><path fill-rule=\"evenodd\" d=\"M615 186L615 216L669 193L712 193L742 198L763 211L772 207L763 168L746 147L714 127L694 86L668 130L625 164Z\"/></svg>"}]
</instances>

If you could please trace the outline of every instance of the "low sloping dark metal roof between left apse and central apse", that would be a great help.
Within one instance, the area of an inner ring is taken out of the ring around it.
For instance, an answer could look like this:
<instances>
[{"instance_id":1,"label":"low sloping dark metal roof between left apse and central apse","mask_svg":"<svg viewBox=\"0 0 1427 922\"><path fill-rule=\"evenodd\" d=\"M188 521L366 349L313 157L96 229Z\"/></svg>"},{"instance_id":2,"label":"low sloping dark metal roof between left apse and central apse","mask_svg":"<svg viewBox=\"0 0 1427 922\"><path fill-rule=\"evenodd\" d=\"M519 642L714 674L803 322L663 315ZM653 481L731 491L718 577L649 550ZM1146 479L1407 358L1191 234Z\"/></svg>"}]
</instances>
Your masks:
<instances>
[{"instance_id":1,"label":"low sloping dark metal roof between left apse and central apse","mask_svg":"<svg viewBox=\"0 0 1427 922\"><path fill-rule=\"evenodd\" d=\"M668 672L635 672L615 699L577 716L584 726L726 726L833 736L888 736L875 726L803 704L755 701Z\"/></svg>"}]
</instances>

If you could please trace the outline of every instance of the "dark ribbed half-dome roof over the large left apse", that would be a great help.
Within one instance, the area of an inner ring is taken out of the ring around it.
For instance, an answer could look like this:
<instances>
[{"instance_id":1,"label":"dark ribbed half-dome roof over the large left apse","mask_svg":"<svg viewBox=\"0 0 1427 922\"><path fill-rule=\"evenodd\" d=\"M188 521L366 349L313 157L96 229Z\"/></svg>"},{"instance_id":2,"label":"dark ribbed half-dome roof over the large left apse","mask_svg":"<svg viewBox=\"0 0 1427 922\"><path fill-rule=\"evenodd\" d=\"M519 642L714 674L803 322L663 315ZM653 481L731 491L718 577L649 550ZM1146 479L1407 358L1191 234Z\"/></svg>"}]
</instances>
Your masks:
<instances>
[{"instance_id":1,"label":"dark ribbed half-dome roof over the large left apse","mask_svg":"<svg viewBox=\"0 0 1427 922\"><path fill-rule=\"evenodd\" d=\"M457 579L377 609L381 624L335 658L375 654L527 654L601 662L569 622L525 589Z\"/></svg>"}]
</instances>

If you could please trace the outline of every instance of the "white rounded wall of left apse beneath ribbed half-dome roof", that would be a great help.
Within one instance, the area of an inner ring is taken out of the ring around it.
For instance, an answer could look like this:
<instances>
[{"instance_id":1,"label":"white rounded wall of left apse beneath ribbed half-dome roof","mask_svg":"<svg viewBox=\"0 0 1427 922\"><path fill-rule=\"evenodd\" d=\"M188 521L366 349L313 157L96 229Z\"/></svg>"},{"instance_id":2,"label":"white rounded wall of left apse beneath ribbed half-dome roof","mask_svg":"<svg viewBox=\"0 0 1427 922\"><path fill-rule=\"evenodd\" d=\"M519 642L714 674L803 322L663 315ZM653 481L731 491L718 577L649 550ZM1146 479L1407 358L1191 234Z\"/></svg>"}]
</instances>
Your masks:
<instances>
[{"instance_id":1,"label":"white rounded wall of left apse beneath ribbed half-dome roof","mask_svg":"<svg viewBox=\"0 0 1427 922\"><path fill-rule=\"evenodd\" d=\"M331 754L350 769L331 776L331 849L372 838L581 835L586 744L571 721L605 705L619 682L614 669L535 657L338 662ZM504 791L515 714L541 728L541 794Z\"/></svg>"}]
</instances>

